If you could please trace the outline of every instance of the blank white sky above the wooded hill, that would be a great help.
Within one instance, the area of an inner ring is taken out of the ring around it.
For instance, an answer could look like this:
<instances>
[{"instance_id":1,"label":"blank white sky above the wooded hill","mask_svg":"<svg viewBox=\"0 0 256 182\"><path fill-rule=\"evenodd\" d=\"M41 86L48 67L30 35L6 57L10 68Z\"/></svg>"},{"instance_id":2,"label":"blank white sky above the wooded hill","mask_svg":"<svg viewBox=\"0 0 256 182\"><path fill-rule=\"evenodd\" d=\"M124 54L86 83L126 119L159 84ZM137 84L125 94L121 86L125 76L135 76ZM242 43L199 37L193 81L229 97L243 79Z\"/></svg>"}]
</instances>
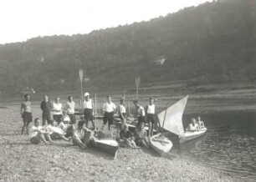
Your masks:
<instances>
[{"instance_id":1,"label":"blank white sky above the wooded hill","mask_svg":"<svg viewBox=\"0 0 256 182\"><path fill-rule=\"evenodd\" d=\"M148 21L212 0L1 0L0 44Z\"/></svg>"}]
</instances>

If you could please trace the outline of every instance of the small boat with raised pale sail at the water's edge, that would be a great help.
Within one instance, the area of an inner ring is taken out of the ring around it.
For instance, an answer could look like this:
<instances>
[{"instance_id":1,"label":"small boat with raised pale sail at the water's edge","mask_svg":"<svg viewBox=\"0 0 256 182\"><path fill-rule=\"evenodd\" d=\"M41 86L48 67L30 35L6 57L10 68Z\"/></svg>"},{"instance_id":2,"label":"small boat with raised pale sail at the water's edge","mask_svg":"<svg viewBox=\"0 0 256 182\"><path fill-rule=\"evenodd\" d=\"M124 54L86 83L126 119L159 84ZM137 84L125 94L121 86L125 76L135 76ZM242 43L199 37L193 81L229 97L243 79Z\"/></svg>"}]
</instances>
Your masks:
<instances>
[{"instance_id":1,"label":"small boat with raised pale sail at the water's edge","mask_svg":"<svg viewBox=\"0 0 256 182\"><path fill-rule=\"evenodd\" d=\"M184 131L182 115L187 104L187 99L188 95L158 114L161 128L172 134L177 134L180 144L192 139L197 139L207 132L207 128L198 129L197 131Z\"/></svg>"}]
</instances>

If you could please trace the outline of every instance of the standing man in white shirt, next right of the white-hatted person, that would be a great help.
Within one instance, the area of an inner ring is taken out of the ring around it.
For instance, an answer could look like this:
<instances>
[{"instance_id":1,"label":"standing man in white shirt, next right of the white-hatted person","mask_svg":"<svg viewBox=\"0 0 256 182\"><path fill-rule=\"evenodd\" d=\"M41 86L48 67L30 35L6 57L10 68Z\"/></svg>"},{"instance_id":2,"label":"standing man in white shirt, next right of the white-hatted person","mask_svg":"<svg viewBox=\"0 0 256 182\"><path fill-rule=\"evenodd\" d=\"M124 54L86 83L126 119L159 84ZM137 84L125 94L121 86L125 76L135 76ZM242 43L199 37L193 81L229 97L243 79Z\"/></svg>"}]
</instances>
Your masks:
<instances>
[{"instance_id":1,"label":"standing man in white shirt, next right of the white-hatted person","mask_svg":"<svg viewBox=\"0 0 256 182\"><path fill-rule=\"evenodd\" d=\"M103 124L109 124L109 130L110 130L110 125L113 124L114 122L114 114L115 114L115 104L111 102L110 96L107 96L107 101L105 104L103 104L103 113L104 113L104 118L103 118ZM104 127L104 126L103 126Z\"/></svg>"}]
</instances>

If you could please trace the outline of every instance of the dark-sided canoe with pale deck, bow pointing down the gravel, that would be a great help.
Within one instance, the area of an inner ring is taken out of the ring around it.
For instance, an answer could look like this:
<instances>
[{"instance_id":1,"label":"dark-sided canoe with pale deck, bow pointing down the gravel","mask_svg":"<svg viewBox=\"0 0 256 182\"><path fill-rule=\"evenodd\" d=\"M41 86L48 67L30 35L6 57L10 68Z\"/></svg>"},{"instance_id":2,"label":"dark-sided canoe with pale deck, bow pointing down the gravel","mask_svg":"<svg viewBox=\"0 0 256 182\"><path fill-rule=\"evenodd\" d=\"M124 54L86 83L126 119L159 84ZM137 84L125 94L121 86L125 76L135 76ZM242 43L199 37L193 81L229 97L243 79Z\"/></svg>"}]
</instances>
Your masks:
<instances>
[{"instance_id":1,"label":"dark-sided canoe with pale deck, bow pointing down the gravel","mask_svg":"<svg viewBox=\"0 0 256 182\"><path fill-rule=\"evenodd\" d=\"M95 147L115 157L119 144L114 139L95 139Z\"/></svg>"}]
</instances>

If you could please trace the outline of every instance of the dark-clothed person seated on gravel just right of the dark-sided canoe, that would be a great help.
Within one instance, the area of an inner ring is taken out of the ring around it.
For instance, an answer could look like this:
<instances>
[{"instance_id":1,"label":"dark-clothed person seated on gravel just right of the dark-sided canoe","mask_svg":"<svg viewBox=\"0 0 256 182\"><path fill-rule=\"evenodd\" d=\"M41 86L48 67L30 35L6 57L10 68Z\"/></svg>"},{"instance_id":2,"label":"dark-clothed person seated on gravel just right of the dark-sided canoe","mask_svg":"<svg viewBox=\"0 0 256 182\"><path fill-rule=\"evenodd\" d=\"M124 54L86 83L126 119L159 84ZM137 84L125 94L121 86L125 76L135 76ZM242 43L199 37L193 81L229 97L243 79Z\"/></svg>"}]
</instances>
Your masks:
<instances>
[{"instance_id":1,"label":"dark-clothed person seated on gravel just right of the dark-sided canoe","mask_svg":"<svg viewBox=\"0 0 256 182\"><path fill-rule=\"evenodd\" d=\"M134 138L131 134L131 131L128 129L127 124L123 124L122 129L120 130L120 143L125 143L127 146L132 149L138 149L138 147L134 141Z\"/></svg>"}]
</instances>

